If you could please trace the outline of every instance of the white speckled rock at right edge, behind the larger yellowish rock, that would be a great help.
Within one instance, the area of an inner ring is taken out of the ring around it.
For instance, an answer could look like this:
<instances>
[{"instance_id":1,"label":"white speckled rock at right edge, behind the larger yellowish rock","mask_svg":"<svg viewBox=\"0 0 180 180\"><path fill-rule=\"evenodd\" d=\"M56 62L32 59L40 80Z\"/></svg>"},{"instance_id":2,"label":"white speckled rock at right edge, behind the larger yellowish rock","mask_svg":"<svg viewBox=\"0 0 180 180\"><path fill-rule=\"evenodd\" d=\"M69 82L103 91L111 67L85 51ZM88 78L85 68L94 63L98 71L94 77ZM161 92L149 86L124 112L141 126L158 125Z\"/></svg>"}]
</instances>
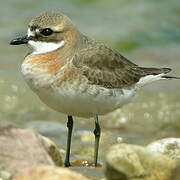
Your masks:
<instances>
[{"instance_id":1,"label":"white speckled rock at right edge, behind the larger yellowish rock","mask_svg":"<svg viewBox=\"0 0 180 180\"><path fill-rule=\"evenodd\" d=\"M165 138L147 146L152 152L162 153L180 164L180 138Z\"/></svg>"}]
</instances>

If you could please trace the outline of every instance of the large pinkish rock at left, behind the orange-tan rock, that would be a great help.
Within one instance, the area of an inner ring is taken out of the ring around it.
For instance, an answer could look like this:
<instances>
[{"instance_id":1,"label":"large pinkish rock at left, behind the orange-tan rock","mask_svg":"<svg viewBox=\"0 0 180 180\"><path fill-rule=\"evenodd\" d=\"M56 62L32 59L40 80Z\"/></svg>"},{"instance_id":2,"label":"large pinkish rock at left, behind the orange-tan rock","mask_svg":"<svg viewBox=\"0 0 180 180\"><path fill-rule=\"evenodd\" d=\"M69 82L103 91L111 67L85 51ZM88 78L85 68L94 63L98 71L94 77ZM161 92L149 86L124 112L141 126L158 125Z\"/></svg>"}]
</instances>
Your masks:
<instances>
[{"instance_id":1,"label":"large pinkish rock at left, behind the orange-tan rock","mask_svg":"<svg viewBox=\"0 0 180 180\"><path fill-rule=\"evenodd\" d=\"M0 147L0 176L40 165L62 165L55 145L32 130L0 127Z\"/></svg>"}]
</instances>

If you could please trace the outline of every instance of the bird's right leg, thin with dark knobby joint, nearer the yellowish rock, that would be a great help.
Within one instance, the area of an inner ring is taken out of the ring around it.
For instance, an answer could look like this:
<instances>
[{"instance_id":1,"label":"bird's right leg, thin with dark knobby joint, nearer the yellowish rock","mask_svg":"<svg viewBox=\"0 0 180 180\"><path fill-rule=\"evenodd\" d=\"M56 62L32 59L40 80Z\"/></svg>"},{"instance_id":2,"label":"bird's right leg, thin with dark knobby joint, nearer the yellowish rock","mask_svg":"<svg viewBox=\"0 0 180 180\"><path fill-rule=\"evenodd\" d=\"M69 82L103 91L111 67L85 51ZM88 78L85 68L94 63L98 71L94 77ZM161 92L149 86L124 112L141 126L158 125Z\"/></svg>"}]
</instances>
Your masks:
<instances>
[{"instance_id":1,"label":"bird's right leg, thin with dark knobby joint, nearer the yellowish rock","mask_svg":"<svg viewBox=\"0 0 180 180\"><path fill-rule=\"evenodd\" d=\"M94 120L95 120L95 129L94 129L94 135L95 135L94 165L97 166L99 139L100 139L100 135L101 135L101 128L99 126L98 115L97 114L95 114Z\"/></svg>"}]
</instances>

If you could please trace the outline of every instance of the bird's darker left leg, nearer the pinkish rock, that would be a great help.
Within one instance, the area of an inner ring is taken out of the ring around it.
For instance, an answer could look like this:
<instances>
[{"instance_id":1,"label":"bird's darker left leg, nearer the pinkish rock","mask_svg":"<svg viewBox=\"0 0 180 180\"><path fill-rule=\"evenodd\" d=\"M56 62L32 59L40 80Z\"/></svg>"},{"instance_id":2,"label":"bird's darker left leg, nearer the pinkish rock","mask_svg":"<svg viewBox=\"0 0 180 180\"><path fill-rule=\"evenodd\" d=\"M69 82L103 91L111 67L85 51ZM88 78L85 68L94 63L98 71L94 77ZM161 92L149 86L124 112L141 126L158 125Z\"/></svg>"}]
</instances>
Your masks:
<instances>
[{"instance_id":1,"label":"bird's darker left leg, nearer the pinkish rock","mask_svg":"<svg viewBox=\"0 0 180 180\"><path fill-rule=\"evenodd\" d=\"M65 167L69 167L71 165L69 162L69 157L70 157L71 136L72 136L72 129L73 129L72 116L68 116L67 128L68 128L68 138L67 138L66 158L65 158L65 162L64 162Z\"/></svg>"}]
</instances>

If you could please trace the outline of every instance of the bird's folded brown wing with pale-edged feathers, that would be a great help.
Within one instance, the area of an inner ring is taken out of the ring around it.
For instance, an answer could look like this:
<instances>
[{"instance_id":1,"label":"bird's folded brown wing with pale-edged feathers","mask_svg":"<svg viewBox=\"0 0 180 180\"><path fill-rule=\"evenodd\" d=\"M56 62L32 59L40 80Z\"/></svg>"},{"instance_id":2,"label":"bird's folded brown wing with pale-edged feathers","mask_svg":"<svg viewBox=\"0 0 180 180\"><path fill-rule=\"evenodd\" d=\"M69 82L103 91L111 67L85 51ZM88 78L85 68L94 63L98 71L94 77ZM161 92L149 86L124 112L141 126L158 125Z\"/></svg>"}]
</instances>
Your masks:
<instances>
[{"instance_id":1,"label":"bird's folded brown wing with pale-edged feathers","mask_svg":"<svg viewBox=\"0 0 180 180\"><path fill-rule=\"evenodd\" d=\"M103 45L81 50L74 56L72 63L87 77L89 83L106 88L122 88L138 82L148 74L163 72L163 69L138 67Z\"/></svg>"}]
</instances>

